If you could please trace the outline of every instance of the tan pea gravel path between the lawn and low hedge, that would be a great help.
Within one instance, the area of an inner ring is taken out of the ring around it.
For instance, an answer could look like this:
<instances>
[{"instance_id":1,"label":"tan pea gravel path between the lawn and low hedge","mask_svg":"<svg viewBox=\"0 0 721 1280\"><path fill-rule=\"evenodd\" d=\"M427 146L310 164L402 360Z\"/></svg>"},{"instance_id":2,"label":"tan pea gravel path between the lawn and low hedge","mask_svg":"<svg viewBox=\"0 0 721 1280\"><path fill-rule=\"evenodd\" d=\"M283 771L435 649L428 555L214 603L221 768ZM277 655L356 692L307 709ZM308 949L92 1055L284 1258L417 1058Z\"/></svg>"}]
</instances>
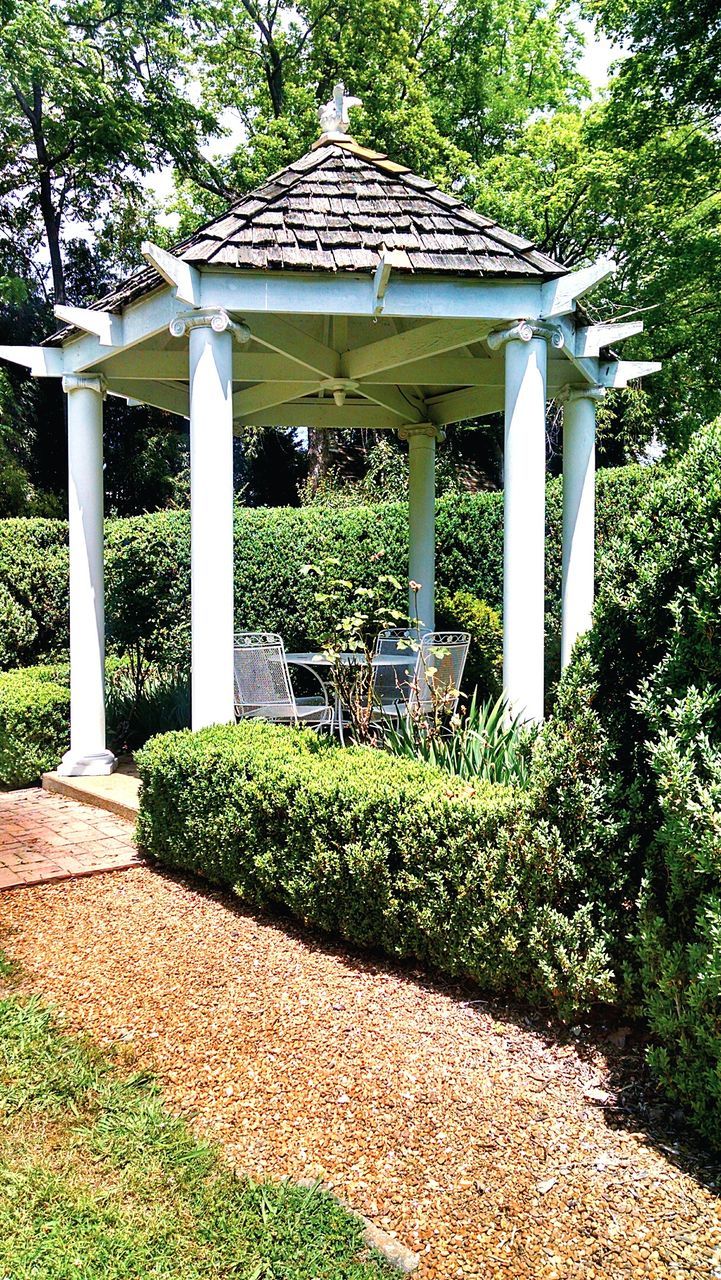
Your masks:
<instances>
[{"instance_id":1,"label":"tan pea gravel path between the lawn and low hedge","mask_svg":"<svg viewBox=\"0 0 721 1280\"><path fill-rule=\"evenodd\" d=\"M419 1280L721 1276L713 1170L613 1111L613 1044L147 868L3 895L0 945L239 1167L330 1183Z\"/></svg>"}]
</instances>

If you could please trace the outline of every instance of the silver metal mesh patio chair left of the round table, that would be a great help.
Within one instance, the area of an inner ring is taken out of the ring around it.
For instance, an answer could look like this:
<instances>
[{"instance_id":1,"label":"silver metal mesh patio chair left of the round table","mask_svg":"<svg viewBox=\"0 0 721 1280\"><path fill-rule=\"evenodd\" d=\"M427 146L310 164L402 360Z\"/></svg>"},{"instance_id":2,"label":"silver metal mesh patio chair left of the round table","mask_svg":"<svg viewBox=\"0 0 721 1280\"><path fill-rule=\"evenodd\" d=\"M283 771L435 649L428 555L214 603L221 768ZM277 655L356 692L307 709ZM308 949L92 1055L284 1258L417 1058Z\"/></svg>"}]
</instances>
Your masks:
<instances>
[{"instance_id":1,"label":"silver metal mesh patio chair left of the round table","mask_svg":"<svg viewBox=\"0 0 721 1280\"><path fill-rule=\"evenodd\" d=\"M321 695L296 698L279 635L271 631L242 631L233 649L236 717L266 719L277 724L307 724L330 728L333 707L321 680Z\"/></svg>"}]
</instances>

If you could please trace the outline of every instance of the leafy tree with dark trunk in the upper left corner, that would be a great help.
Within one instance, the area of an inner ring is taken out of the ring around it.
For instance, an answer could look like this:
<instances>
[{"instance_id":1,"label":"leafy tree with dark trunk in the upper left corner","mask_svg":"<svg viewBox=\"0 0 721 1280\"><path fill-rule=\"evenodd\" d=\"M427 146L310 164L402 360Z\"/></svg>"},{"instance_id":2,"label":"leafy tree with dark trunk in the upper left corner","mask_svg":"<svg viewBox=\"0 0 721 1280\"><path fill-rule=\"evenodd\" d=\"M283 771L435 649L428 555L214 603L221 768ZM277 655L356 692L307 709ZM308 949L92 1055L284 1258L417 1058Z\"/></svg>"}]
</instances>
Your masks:
<instances>
[{"instance_id":1,"label":"leafy tree with dark trunk in the upper left corner","mask_svg":"<svg viewBox=\"0 0 721 1280\"><path fill-rule=\"evenodd\" d=\"M138 175L173 159L204 178L213 116L187 93L190 0L4 0L0 204L28 275L45 247L55 302L68 297L69 224L113 200L136 206Z\"/></svg>"}]
</instances>

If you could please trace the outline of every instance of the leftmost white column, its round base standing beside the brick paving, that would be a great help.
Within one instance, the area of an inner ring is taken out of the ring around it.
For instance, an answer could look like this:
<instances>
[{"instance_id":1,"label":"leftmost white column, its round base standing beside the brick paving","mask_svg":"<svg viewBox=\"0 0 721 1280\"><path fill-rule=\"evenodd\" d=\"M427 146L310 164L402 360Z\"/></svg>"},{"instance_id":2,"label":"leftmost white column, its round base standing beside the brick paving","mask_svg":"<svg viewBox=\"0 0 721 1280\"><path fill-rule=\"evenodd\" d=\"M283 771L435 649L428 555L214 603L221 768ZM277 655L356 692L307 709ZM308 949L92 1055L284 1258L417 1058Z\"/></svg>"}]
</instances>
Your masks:
<instances>
[{"instance_id":1,"label":"leftmost white column, its round base standing beside the brick paving","mask_svg":"<svg viewBox=\"0 0 721 1280\"><path fill-rule=\"evenodd\" d=\"M70 552L70 749L58 773L111 773L105 746L105 598L102 575L102 398L96 375L63 379L68 396Z\"/></svg>"}]
</instances>

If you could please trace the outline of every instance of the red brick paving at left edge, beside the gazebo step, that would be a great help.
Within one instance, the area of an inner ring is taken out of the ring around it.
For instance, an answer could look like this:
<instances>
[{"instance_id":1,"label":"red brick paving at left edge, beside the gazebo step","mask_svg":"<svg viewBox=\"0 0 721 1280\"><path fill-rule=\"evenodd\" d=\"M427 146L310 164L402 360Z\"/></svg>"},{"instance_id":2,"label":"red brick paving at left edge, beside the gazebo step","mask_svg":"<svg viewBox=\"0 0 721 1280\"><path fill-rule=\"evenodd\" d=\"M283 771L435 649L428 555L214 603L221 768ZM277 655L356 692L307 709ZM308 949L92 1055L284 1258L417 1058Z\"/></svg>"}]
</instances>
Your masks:
<instances>
[{"instance_id":1,"label":"red brick paving at left edge, beside the gazebo step","mask_svg":"<svg viewBox=\"0 0 721 1280\"><path fill-rule=\"evenodd\" d=\"M141 859L133 827L40 787L0 792L0 890L120 870Z\"/></svg>"}]
</instances>

